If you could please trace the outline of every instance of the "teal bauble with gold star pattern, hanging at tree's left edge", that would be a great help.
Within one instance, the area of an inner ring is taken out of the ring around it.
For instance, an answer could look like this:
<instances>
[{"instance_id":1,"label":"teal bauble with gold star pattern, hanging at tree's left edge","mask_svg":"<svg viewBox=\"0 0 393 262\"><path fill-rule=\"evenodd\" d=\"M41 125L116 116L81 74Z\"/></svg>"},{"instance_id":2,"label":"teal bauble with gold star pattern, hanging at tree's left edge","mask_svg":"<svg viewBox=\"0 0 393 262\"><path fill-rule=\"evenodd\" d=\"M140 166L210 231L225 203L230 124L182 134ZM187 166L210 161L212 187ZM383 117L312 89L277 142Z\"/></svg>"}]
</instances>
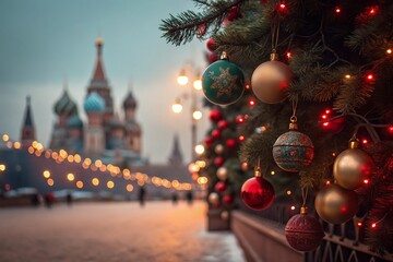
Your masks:
<instances>
[{"instance_id":1,"label":"teal bauble with gold star pattern, hanging at tree's left edge","mask_svg":"<svg viewBox=\"0 0 393 262\"><path fill-rule=\"evenodd\" d=\"M221 60L204 71L202 90L206 99L213 104L234 104L245 92L245 74L238 66L228 61L226 52L223 52Z\"/></svg>"}]
</instances>

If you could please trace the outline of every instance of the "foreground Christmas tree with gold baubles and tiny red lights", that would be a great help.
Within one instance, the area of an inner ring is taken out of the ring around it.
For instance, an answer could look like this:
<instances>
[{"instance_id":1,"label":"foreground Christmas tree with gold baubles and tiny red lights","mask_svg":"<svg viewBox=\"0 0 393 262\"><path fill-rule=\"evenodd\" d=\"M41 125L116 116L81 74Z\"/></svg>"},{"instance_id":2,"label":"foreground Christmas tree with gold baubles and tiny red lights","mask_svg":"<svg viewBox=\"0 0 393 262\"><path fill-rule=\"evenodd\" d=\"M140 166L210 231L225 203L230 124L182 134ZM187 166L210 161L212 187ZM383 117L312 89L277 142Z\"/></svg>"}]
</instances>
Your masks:
<instances>
[{"instance_id":1,"label":"foreground Christmas tree with gold baubles and tiny red lights","mask_svg":"<svg viewBox=\"0 0 393 262\"><path fill-rule=\"evenodd\" d=\"M175 45L211 38L214 53L225 51L245 72L258 103L237 129L246 138L240 162L275 174L276 195L288 187L300 202L305 192L317 195L329 223L365 216L366 242L392 252L393 2L194 2L201 12L170 15L160 29ZM242 115L237 103L226 109ZM332 193L338 211L325 209Z\"/></svg>"}]
</instances>

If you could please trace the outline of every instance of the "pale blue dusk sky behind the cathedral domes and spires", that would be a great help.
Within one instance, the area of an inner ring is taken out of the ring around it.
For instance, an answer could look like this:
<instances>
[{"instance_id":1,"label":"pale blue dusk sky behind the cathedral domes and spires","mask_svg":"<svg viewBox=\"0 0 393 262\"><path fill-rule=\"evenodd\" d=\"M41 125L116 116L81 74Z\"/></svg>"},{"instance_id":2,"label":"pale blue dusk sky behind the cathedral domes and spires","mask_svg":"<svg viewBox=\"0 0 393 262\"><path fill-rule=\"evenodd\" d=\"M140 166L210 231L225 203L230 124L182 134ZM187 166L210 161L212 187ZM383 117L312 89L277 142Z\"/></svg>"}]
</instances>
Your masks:
<instances>
[{"instance_id":1,"label":"pale blue dusk sky behind the cathedral domes and spires","mask_svg":"<svg viewBox=\"0 0 393 262\"><path fill-rule=\"evenodd\" d=\"M0 133L20 139L25 96L32 96L37 139L46 145L53 103L67 76L69 93L82 102L95 63L95 39L104 38L104 64L117 109L131 81L139 100L143 155L165 163L174 133L190 157L189 102L180 116L170 105L182 93L176 76L184 63L203 71L205 43L166 44L158 25L169 13L194 9L191 0L2 0L0 2ZM202 96L202 95L201 95ZM199 140L209 128L200 123Z\"/></svg>"}]
</instances>

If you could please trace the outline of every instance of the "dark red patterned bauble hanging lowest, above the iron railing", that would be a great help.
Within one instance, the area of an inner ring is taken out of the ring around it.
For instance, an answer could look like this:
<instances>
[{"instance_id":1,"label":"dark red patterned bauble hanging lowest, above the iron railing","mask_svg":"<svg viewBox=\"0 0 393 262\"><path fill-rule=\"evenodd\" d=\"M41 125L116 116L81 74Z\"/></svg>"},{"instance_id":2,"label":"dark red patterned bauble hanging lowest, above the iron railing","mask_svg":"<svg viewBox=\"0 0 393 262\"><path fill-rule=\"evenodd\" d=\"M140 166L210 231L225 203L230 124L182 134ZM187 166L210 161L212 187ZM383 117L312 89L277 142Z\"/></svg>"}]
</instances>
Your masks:
<instances>
[{"instance_id":1,"label":"dark red patterned bauble hanging lowest, above the iron railing","mask_svg":"<svg viewBox=\"0 0 393 262\"><path fill-rule=\"evenodd\" d=\"M285 226L285 237L288 243L298 251L317 249L323 236L321 224L315 217L307 215L307 207L301 207L300 214L290 217Z\"/></svg>"}]
</instances>

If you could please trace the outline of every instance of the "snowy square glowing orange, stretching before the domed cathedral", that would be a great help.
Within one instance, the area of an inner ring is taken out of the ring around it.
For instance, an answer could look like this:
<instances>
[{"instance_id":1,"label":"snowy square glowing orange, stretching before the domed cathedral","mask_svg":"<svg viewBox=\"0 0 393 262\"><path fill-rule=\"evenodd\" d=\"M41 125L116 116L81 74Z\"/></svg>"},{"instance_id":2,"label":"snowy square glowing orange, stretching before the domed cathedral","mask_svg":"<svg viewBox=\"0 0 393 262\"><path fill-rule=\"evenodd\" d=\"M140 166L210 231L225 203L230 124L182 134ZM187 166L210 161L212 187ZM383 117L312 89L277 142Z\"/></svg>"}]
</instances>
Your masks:
<instances>
[{"instance_id":1,"label":"snowy square glowing orange, stretching before the domed cathedral","mask_svg":"<svg viewBox=\"0 0 393 262\"><path fill-rule=\"evenodd\" d=\"M243 261L230 233L205 231L195 202L0 210L0 261Z\"/></svg>"}]
</instances>

